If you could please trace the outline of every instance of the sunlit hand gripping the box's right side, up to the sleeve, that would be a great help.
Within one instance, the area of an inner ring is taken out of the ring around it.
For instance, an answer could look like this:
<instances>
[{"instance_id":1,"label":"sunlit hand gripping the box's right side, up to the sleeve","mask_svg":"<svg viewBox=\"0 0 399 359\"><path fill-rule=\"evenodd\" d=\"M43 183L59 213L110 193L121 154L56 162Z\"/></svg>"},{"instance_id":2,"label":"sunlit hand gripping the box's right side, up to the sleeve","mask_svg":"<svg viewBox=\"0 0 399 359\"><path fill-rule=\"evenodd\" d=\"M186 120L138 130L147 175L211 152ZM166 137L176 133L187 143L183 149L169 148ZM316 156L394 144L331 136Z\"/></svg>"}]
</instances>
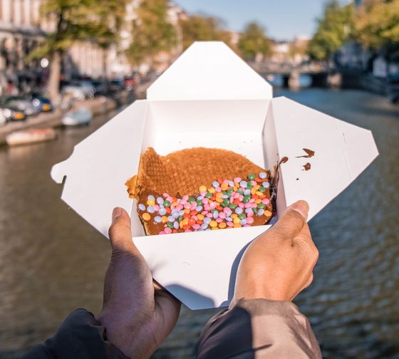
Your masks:
<instances>
[{"instance_id":1,"label":"sunlit hand gripping the box's right side, up to the sleeve","mask_svg":"<svg viewBox=\"0 0 399 359\"><path fill-rule=\"evenodd\" d=\"M313 280L318 250L306 224L309 205L291 204L279 221L248 246L239 263L234 298L292 301Z\"/></svg>"}]
</instances>

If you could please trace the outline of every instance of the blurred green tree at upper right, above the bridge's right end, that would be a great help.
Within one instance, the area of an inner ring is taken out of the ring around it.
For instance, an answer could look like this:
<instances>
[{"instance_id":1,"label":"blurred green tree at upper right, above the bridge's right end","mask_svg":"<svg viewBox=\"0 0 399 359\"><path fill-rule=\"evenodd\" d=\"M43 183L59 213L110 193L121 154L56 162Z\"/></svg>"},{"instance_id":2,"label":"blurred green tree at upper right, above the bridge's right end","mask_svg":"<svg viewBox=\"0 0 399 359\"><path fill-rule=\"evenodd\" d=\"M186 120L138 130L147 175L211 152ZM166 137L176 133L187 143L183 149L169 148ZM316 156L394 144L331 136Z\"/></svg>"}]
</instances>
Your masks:
<instances>
[{"instance_id":1,"label":"blurred green tree at upper right, above the bridge's right end","mask_svg":"<svg viewBox=\"0 0 399 359\"><path fill-rule=\"evenodd\" d=\"M328 60L353 36L353 29L353 5L340 6L338 0L331 0L324 8L323 17L318 19L309 55L316 60Z\"/></svg>"}]
</instances>

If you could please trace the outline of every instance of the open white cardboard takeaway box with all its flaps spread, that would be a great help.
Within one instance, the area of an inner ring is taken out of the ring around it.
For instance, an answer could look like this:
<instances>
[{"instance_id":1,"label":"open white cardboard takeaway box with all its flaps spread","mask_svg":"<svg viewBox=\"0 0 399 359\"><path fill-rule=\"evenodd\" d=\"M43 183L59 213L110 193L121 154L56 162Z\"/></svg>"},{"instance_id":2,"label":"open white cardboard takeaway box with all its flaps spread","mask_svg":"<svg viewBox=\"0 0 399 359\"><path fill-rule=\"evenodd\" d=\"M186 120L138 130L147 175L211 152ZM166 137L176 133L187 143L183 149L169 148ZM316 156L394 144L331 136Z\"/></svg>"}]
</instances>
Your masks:
<instances>
[{"instance_id":1,"label":"open white cardboard takeaway box with all its flaps spread","mask_svg":"<svg viewBox=\"0 0 399 359\"><path fill-rule=\"evenodd\" d=\"M273 169L283 157L277 217L298 199L309 219L375 159L371 131L272 98L269 83L224 43L194 43L137 100L76 145L54 165L62 199L104 236L114 207L131 214L135 244L154 278L192 309L224 306L232 298L241 255L270 226L145 236L125 181L138 171L140 153L160 155L190 147L217 147ZM303 148L315 151L309 159ZM304 171L306 162L311 170ZM299 179L299 180L296 180Z\"/></svg>"}]
</instances>

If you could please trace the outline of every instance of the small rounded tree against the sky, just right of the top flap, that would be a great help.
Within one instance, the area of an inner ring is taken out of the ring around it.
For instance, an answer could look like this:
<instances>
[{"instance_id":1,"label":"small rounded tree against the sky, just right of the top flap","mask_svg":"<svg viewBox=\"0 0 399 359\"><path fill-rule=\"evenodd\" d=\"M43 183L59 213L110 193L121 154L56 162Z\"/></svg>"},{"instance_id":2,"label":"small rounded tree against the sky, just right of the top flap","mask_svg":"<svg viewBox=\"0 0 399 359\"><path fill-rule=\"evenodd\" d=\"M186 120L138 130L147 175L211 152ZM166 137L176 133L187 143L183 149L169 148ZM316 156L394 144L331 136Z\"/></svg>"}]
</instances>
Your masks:
<instances>
[{"instance_id":1,"label":"small rounded tree against the sky, just right of the top flap","mask_svg":"<svg viewBox=\"0 0 399 359\"><path fill-rule=\"evenodd\" d=\"M271 43L266 37L266 30L263 26L252 22L248 24L242 36L239 38L239 50L242 57L247 61L254 61L258 53L263 56L270 56Z\"/></svg>"}]
</instances>

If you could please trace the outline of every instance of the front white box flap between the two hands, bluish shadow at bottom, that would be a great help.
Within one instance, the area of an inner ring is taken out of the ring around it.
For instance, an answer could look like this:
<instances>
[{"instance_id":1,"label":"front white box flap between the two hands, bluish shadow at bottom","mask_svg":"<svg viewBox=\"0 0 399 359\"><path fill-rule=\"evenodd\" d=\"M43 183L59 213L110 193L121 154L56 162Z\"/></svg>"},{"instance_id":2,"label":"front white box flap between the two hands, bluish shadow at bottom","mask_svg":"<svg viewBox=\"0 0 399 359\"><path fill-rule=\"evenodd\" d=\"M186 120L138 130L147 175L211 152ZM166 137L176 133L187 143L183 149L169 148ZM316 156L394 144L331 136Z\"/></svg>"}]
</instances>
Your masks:
<instances>
[{"instance_id":1,"label":"front white box flap between the two hands, bluish shadow at bottom","mask_svg":"<svg viewBox=\"0 0 399 359\"><path fill-rule=\"evenodd\" d=\"M270 226L133 239L156 281L191 309L228 306L247 244Z\"/></svg>"}]
</instances>

